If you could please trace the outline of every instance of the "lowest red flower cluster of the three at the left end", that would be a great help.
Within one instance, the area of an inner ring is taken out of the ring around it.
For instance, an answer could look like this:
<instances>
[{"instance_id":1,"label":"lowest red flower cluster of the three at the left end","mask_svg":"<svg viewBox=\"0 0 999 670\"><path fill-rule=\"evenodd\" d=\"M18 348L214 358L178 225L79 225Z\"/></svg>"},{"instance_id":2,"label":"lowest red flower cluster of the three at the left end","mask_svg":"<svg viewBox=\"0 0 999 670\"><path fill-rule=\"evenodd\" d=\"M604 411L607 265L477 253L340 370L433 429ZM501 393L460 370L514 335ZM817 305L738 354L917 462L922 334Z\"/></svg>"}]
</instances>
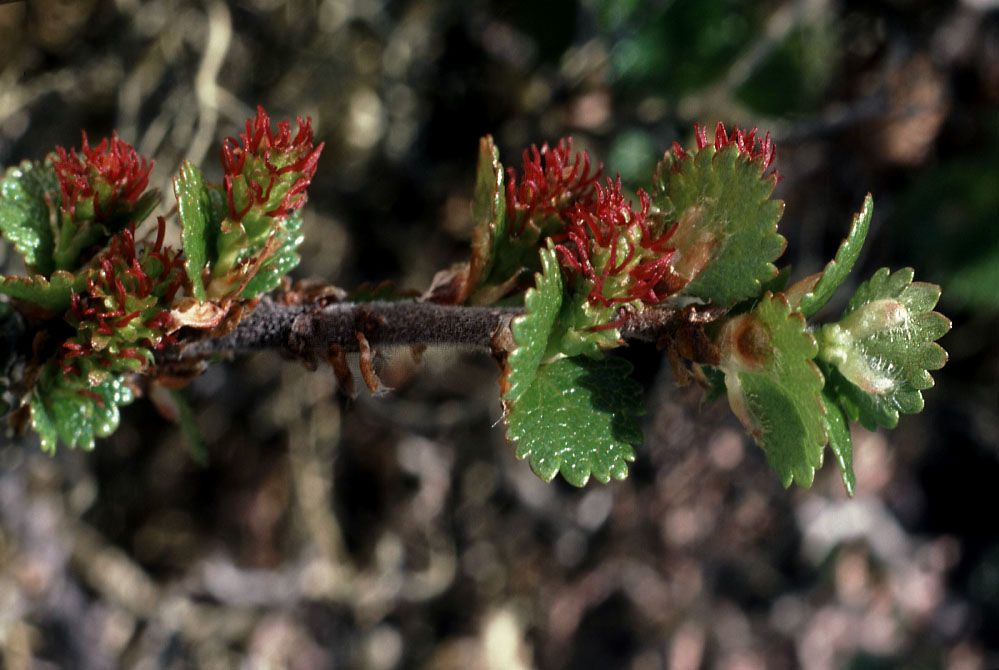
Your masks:
<instances>
[{"instance_id":1,"label":"lowest red flower cluster of the three at the left end","mask_svg":"<svg viewBox=\"0 0 999 670\"><path fill-rule=\"evenodd\" d=\"M159 331L170 322L170 312L157 307L159 304L169 305L174 295L180 289L183 281L183 264L179 252L164 246L166 221L163 217L157 219L156 241L143 250L140 260L135 251L135 226L127 228L115 235L107 253L100 259L100 270L96 277L91 277L86 293L74 293L71 297L71 311L75 318L77 331L84 334L83 341L63 343L63 356L60 365L65 374L79 374L79 368L70 362L74 358L95 356L96 364L102 368L111 368L113 360L106 355L104 349L95 349L93 342L86 337L85 332L113 338L121 334L121 329L128 327L134 320L143 319L141 325L145 329ZM155 262L151 262L155 261ZM145 267L144 267L145 265ZM150 272L154 276L150 276ZM157 295L153 292L157 291ZM115 308L107 309L107 297L112 296ZM131 300L129 300L131 298ZM131 303L131 311L129 305ZM139 307L139 309L135 309ZM81 328L85 322L96 323L90 329ZM126 338L123 343L138 346L150 345L160 349L172 337L157 338L155 342L146 341L146 332L136 332L134 337ZM143 363L145 356L137 347L123 346L115 354L117 358L133 358Z\"/></svg>"}]
</instances>

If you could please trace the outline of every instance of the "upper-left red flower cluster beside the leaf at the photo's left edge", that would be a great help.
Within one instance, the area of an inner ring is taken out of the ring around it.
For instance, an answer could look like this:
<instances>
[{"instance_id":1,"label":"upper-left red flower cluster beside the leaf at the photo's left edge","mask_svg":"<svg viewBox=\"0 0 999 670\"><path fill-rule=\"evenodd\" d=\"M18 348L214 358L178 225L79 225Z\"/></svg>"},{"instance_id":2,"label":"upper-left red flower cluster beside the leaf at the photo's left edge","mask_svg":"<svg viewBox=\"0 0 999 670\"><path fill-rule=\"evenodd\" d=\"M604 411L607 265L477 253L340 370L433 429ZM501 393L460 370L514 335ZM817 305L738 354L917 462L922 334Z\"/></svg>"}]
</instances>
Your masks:
<instances>
[{"instance_id":1,"label":"upper-left red flower cluster beside the leaf at the photo's left edge","mask_svg":"<svg viewBox=\"0 0 999 670\"><path fill-rule=\"evenodd\" d=\"M52 163L62 191L62 210L75 217L78 205L92 203L94 218L103 220L119 203L135 204L149 185L154 161L140 156L117 133L91 147L84 132L79 152L56 147Z\"/></svg>"}]
</instances>

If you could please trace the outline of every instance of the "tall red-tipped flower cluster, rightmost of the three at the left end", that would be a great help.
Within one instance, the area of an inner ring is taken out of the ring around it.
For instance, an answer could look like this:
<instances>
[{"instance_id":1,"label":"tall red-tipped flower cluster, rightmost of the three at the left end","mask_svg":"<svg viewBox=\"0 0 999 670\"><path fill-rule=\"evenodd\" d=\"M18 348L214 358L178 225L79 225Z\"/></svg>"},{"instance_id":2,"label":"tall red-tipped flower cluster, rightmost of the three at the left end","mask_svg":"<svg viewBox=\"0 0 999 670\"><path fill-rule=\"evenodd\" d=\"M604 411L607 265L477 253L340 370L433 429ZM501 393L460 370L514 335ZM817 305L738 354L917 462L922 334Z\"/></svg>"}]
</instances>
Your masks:
<instances>
[{"instance_id":1,"label":"tall red-tipped flower cluster, rightmost of the three at the left end","mask_svg":"<svg viewBox=\"0 0 999 670\"><path fill-rule=\"evenodd\" d=\"M284 217L304 205L305 190L316 173L325 144L312 146L312 121L299 117L298 132L293 138L289 121L281 121L277 130L272 130L267 112L257 105L256 117L246 120L246 132L239 139L241 146L235 137L222 143L230 216L241 221L256 205L269 206L267 216ZM237 186L241 180L245 180L245 185ZM280 200L273 203L272 196L280 196Z\"/></svg>"}]
</instances>

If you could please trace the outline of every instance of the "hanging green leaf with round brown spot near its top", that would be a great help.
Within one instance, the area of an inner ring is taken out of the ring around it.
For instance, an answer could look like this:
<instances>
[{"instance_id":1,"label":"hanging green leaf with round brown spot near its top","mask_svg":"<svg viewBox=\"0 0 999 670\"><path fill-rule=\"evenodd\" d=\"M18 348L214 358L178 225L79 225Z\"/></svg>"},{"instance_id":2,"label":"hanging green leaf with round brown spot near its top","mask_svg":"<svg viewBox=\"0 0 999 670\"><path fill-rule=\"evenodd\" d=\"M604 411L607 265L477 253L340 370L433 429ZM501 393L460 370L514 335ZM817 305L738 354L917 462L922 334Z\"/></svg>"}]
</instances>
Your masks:
<instances>
[{"instance_id":1,"label":"hanging green leaf with round brown spot near its top","mask_svg":"<svg viewBox=\"0 0 999 670\"><path fill-rule=\"evenodd\" d=\"M784 486L811 486L822 465L826 430L822 374L812 361L817 351L805 320L781 294L764 295L753 312L735 317L722 332L720 367L729 404Z\"/></svg>"}]
</instances>

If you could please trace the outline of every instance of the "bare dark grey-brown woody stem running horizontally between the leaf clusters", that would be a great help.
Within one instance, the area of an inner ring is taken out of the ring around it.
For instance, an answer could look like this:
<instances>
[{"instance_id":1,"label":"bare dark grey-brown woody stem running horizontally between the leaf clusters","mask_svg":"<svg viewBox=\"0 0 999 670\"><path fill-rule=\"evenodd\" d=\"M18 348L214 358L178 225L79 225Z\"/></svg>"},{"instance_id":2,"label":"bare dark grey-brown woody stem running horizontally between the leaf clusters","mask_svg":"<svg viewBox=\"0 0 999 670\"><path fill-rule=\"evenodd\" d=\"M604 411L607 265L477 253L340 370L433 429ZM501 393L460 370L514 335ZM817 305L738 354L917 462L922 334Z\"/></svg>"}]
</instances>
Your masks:
<instances>
[{"instance_id":1,"label":"bare dark grey-brown woody stem running horizontally between the leaf clusters","mask_svg":"<svg viewBox=\"0 0 999 670\"><path fill-rule=\"evenodd\" d=\"M309 361L331 348L359 351L358 334L371 345L456 345L494 355L513 350L510 321L523 309L465 307L427 302L335 302L284 305L265 297L239 325L222 337L204 337L158 355L160 362L194 361L218 354L278 351ZM703 326L720 313L688 307L647 308L621 327L626 339L659 342L683 324Z\"/></svg>"}]
</instances>

